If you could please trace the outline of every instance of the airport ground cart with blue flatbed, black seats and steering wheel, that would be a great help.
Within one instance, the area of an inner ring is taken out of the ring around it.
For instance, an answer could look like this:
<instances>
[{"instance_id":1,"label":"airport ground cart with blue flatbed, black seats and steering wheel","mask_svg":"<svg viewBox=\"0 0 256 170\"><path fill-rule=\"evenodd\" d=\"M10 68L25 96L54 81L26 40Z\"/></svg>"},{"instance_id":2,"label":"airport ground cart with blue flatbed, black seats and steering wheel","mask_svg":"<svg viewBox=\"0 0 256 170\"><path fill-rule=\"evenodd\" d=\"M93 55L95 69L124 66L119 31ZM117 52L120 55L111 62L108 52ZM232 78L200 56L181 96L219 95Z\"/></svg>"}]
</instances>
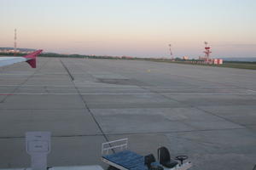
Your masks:
<instances>
[{"instance_id":1,"label":"airport ground cart with blue flatbed, black seats and steering wheel","mask_svg":"<svg viewBox=\"0 0 256 170\"><path fill-rule=\"evenodd\" d=\"M153 154L141 156L128 150L128 139L102 143L102 161L109 165L109 170L187 170L192 167L190 161L183 162L188 156L177 156L180 162L174 161L165 147L158 150L158 158L155 161Z\"/></svg>"}]
</instances>

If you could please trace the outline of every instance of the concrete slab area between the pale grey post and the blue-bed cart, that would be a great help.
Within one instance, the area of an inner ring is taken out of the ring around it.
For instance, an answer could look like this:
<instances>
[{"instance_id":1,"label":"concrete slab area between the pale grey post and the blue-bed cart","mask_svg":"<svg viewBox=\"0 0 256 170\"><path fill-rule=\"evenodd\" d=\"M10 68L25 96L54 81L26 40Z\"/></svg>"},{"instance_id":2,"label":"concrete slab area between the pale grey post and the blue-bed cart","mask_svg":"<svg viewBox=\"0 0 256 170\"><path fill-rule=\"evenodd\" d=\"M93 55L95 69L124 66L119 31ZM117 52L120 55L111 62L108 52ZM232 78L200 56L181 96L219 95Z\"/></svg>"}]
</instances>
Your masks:
<instances>
[{"instance_id":1,"label":"concrete slab area between the pale grey post and the blue-bed cart","mask_svg":"<svg viewBox=\"0 0 256 170\"><path fill-rule=\"evenodd\" d=\"M54 138L50 166L106 165L101 160L103 136Z\"/></svg>"}]
</instances>

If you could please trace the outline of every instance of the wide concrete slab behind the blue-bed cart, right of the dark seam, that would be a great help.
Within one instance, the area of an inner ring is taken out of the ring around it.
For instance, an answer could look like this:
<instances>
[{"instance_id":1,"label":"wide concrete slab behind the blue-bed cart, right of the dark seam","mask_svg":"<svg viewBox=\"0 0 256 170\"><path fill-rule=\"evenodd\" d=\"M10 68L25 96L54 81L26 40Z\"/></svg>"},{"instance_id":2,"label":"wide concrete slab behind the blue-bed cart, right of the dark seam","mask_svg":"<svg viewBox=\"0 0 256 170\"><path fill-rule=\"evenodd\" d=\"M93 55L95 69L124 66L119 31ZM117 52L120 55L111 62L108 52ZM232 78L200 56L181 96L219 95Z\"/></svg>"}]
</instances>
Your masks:
<instances>
[{"instance_id":1,"label":"wide concrete slab behind the blue-bed cart, right of the dark seam","mask_svg":"<svg viewBox=\"0 0 256 170\"><path fill-rule=\"evenodd\" d=\"M195 108L93 109L105 133L168 133L245 128Z\"/></svg>"}]
</instances>

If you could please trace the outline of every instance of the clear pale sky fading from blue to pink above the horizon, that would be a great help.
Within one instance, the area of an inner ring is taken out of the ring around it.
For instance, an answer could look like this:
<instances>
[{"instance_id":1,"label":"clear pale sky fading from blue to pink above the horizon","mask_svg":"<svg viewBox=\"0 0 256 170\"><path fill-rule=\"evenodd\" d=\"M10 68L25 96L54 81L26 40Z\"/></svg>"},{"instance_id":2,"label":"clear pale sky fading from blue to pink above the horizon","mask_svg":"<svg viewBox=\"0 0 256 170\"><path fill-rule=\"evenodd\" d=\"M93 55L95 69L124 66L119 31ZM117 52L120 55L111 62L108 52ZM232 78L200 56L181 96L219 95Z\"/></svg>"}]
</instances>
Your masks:
<instances>
[{"instance_id":1,"label":"clear pale sky fading from blue to pink above the horizon","mask_svg":"<svg viewBox=\"0 0 256 170\"><path fill-rule=\"evenodd\" d=\"M255 0L0 0L0 47L64 54L256 57Z\"/></svg>"}]
</instances>

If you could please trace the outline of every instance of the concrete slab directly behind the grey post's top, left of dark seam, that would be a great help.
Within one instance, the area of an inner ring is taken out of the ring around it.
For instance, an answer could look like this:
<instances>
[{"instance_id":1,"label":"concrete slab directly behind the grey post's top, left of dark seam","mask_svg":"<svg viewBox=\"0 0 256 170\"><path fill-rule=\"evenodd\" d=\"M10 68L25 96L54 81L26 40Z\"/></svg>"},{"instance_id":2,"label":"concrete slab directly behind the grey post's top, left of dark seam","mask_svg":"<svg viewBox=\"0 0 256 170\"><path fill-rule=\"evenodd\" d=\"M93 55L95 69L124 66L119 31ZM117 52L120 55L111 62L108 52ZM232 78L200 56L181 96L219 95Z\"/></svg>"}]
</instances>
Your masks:
<instances>
[{"instance_id":1,"label":"concrete slab directly behind the grey post's top, left of dark seam","mask_svg":"<svg viewBox=\"0 0 256 170\"><path fill-rule=\"evenodd\" d=\"M0 138L23 136L28 131L49 131L53 136L102 134L84 110L1 110Z\"/></svg>"}]
</instances>

